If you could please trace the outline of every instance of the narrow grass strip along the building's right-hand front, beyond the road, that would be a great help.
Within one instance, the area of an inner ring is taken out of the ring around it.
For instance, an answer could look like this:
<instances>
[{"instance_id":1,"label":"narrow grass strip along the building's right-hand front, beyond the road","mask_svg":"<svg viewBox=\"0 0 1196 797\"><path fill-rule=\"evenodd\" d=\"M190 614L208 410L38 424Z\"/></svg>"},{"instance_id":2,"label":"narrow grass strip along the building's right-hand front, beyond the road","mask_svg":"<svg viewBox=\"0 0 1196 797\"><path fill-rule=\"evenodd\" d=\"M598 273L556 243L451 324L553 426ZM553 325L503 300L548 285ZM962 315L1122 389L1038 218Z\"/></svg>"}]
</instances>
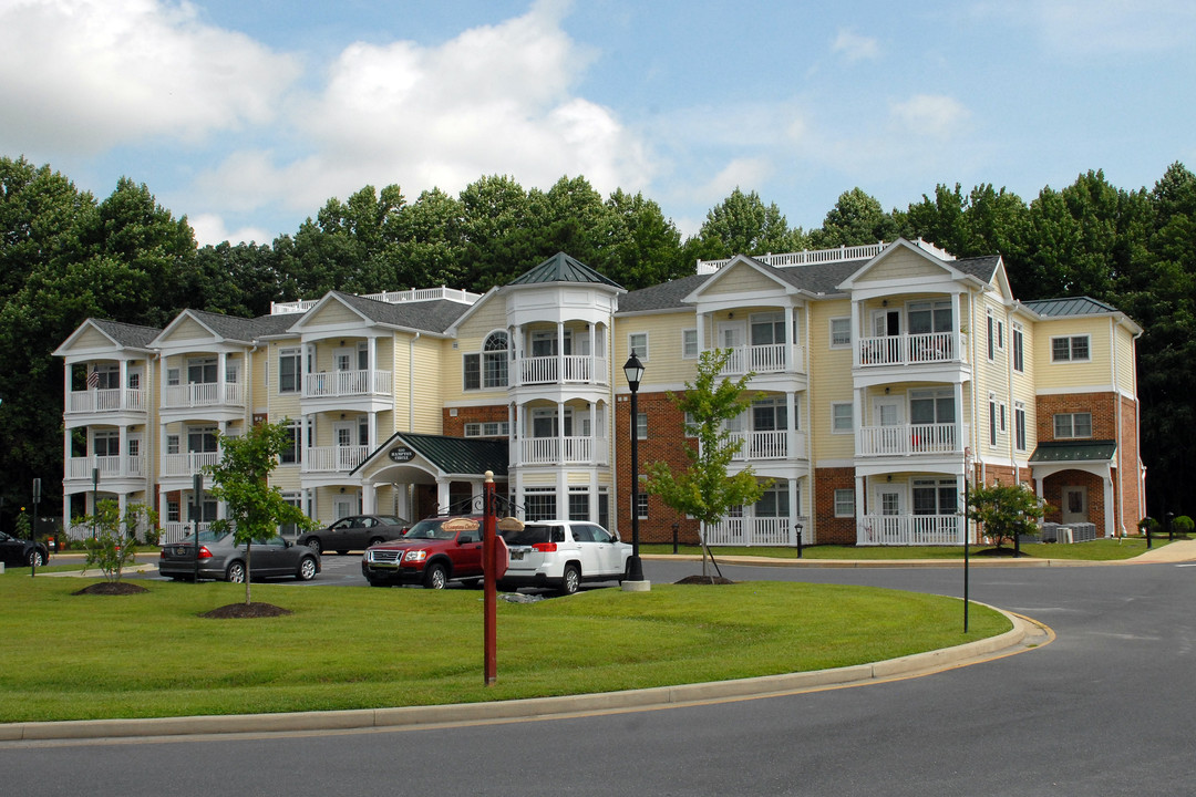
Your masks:
<instances>
[{"instance_id":1,"label":"narrow grass strip along the building's right-hand front, beyond the road","mask_svg":"<svg viewBox=\"0 0 1196 797\"><path fill-rule=\"evenodd\" d=\"M1183 539L1177 537L1177 539ZM1166 545L1166 539L1154 539L1154 547ZM1009 544L1003 546L1009 550ZM971 556L984 557L989 545L971 546ZM798 550L795 547L758 546L758 547L721 547L714 546L715 558L734 556L771 557L776 559L795 559ZM1118 559L1130 559L1141 553L1146 553L1146 539L1129 537L1124 540L1100 539L1091 542L1074 542L1072 545L1057 544L1033 544L1023 545L1023 556L1041 559L1078 559L1088 562L1113 562ZM677 548L679 554L701 556L702 548L696 545L681 545ZM640 545L641 553L671 556L672 544ZM901 560L901 559L959 559L964 558L962 545L921 545L921 546L896 546L896 545L806 545L801 548L801 556L806 559L849 559L856 562L865 560Z\"/></svg>"}]
</instances>

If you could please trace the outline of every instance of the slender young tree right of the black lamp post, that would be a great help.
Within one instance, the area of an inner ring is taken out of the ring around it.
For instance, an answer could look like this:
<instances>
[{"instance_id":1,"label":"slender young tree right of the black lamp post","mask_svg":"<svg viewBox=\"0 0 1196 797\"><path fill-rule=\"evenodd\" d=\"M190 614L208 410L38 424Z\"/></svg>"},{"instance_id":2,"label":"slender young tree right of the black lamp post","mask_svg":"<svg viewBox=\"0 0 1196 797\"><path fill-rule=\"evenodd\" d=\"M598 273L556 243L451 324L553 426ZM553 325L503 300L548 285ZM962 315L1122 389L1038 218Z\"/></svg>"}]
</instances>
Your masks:
<instances>
[{"instance_id":1,"label":"slender young tree right of the black lamp post","mask_svg":"<svg viewBox=\"0 0 1196 797\"><path fill-rule=\"evenodd\" d=\"M743 447L743 439L734 437L725 423L751 405L752 397L745 393L745 388L755 376L749 373L736 381L726 376L720 379L719 374L730 358L730 349L703 351L692 384L685 382L685 392L681 396L669 393L673 406L692 418L688 433L697 437L697 447L685 443L689 468L673 473L669 462L648 465L647 491L660 496L678 514L689 515L703 525L703 576L704 527L721 521L732 507L756 503L771 484L771 480L757 482L751 467L727 476L727 466Z\"/></svg>"}]
</instances>

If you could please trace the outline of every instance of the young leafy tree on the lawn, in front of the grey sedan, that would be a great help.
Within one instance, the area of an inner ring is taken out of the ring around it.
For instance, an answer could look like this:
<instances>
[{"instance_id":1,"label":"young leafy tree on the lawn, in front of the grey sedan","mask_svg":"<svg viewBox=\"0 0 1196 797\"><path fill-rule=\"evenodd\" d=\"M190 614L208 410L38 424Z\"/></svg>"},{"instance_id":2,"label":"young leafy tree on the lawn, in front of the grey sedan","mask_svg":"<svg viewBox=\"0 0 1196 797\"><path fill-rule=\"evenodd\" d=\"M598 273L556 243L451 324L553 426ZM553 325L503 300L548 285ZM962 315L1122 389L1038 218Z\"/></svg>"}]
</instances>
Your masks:
<instances>
[{"instance_id":1,"label":"young leafy tree on the lawn, in front of the grey sedan","mask_svg":"<svg viewBox=\"0 0 1196 797\"><path fill-rule=\"evenodd\" d=\"M214 521L212 528L232 531L233 541L245 546L245 606L251 602L254 541L270 539L283 523L304 529L313 527L303 510L288 504L282 490L268 480L279 464L279 454L289 443L289 423L288 419L257 423L239 437L219 435L220 461L205 468L214 483L212 495L225 502L228 513L227 517Z\"/></svg>"}]
</instances>

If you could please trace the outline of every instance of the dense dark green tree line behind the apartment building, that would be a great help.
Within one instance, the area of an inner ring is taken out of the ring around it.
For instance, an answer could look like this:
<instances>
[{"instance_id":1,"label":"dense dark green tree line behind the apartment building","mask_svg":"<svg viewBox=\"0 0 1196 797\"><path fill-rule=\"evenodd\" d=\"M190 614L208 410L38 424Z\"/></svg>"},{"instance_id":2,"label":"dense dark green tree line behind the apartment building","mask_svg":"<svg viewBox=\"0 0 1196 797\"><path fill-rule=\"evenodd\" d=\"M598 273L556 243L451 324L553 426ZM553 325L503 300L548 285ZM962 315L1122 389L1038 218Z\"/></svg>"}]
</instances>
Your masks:
<instances>
[{"instance_id":1,"label":"dense dark green tree line behind the apartment building","mask_svg":"<svg viewBox=\"0 0 1196 797\"><path fill-rule=\"evenodd\" d=\"M854 188L808 231L736 189L690 237L642 192L603 197L580 176L548 190L488 176L457 196L431 189L414 201L398 185L366 185L270 244L199 247L187 216L145 184L122 178L97 200L49 165L0 158L0 528L28 504L33 477L61 505L62 373L50 352L87 317L161 326L187 307L255 317L334 288L481 293L557 251L635 289L690 275L697 259L899 235L959 257L1000 253L1018 299L1088 295L1141 324L1148 507L1196 513L1184 484L1196 443L1196 176L1179 163L1149 189L1090 171L1030 202L957 183L886 211Z\"/></svg>"}]
</instances>

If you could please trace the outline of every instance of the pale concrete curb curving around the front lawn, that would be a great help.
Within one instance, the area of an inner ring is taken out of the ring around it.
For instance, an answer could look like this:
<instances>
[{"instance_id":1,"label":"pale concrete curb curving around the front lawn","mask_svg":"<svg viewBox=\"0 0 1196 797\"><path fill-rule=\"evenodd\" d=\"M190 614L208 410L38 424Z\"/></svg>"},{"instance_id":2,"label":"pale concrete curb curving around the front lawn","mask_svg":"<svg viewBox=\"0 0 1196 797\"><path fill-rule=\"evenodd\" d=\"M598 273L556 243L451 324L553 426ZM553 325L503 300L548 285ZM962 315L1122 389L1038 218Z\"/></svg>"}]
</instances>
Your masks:
<instances>
[{"instance_id":1,"label":"pale concrete curb curving around the front lawn","mask_svg":"<svg viewBox=\"0 0 1196 797\"><path fill-rule=\"evenodd\" d=\"M780 695L818 688L878 683L896 678L925 675L970 660L994 657L1021 645L1043 626L1027 618L1000 611L1013 629L996 637L952 648L929 650L869 664L732 681L684 683L647 689L555 698L527 698L490 703L463 703L438 706L403 706L348 711L307 711L270 715L228 715L163 717L150 719L84 719L0 724L0 742L48 740L100 740L202 734L270 734L286 731L366 730L372 728L417 728L450 723L513 722L548 719L578 713L647 711L716 700ZM1049 632L1048 632L1049 634Z\"/></svg>"}]
</instances>

